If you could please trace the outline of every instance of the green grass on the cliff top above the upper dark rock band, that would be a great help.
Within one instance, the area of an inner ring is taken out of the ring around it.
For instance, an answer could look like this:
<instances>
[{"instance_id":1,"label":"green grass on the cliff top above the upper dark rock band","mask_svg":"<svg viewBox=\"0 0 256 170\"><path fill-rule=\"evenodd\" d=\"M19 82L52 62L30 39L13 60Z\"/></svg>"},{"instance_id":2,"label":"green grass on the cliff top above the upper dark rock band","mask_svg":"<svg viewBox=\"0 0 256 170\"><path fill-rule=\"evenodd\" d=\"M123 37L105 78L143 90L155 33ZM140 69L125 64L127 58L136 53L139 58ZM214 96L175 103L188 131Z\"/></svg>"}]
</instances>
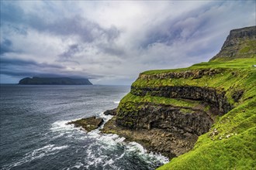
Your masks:
<instances>
[{"instance_id":1,"label":"green grass on the cliff top above the upper dark rock band","mask_svg":"<svg viewBox=\"0 0 256 170\"><path fill-rule=\"evenodd\" d=\"M209 69L218 67L221 70L220 73L216 73L213 76L202 76L199 79L188 78L169 78L169 79L140 79L138 78L132 87L140 88L153 88L153 87L168 87L168 86L194 86L194 87L207 87L214 88L219 93L226 92L227 100L230 104L235 104L232 95L237 90L245 90L242 100L249 97L254 97L254 86L256 84L256 68L252 67L256 58L249 59L234 59L227 63L224 62L209 62L195 64L191 68ZM237 62L237 63L236 63ZM256 63L256 61L255 61ZM218 66L219 65L219 66ZM223 67L220 67L223 66ZM182 69L184 71L184 69ZM171 70L171 72L174 70ZM176 70L175 70L176 71ZM154 70L152 72L144 73L167 73L167 70ZM143 74L144 74L143 73Z\"/></svg>"}]
</instances>

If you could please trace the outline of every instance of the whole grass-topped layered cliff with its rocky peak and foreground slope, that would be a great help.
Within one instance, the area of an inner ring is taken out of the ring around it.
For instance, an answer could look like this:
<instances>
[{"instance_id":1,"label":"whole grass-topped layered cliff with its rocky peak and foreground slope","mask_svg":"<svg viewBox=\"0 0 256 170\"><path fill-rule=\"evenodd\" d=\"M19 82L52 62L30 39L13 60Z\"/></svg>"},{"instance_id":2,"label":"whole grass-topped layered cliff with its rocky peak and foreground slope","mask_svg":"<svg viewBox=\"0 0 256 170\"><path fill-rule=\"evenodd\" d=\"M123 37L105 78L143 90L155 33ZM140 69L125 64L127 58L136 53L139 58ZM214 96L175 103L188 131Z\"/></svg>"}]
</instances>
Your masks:
<instances>
[{"instance_id":1,"label":"whole grass-topped layered cliff with its rocky peak and foreground slope","mask_svg":"<svg viewBox=\"0 0 256 170\"><path fill-rule=\"evenodd\" d=\"M254 29L232 30L209 62L140 73L102 131L168 156L159 169L254 168Z\"/></svg>"}]
</instances>

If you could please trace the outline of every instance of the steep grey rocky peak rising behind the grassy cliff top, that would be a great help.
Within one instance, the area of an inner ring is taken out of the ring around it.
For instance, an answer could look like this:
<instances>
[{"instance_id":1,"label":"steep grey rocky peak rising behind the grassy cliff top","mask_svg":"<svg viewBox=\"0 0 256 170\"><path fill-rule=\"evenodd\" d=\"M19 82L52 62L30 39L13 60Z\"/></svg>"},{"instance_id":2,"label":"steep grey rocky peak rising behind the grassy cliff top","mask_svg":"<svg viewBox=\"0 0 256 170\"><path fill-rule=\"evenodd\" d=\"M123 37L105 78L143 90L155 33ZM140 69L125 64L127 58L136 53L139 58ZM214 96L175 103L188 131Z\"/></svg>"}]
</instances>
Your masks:
<instances>
[{"instance_id":1,"label":"steep grey rocky peak rising behind the grassy cliff top","mask_svg":"<svg viewBox=\"0 0 256 170\"><path fill-rule=\"evenodd\" d=\"M220 53L214 59L235 59L251 57L256 54L256 26L234 29L227 36Z\"/></svg>"}]
</instances>

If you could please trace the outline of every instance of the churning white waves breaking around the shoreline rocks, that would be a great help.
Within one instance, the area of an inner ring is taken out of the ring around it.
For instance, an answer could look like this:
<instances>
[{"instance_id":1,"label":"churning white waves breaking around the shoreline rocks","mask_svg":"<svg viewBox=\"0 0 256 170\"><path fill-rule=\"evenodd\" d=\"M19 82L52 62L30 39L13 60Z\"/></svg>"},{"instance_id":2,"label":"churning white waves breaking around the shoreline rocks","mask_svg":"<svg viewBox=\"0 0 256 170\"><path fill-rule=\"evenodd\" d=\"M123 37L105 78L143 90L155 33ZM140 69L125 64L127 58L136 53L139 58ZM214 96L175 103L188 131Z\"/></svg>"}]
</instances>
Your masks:
<instances>
[{"instance_id":1,"label":"churning white waves breaking around the shoreline rocks","mask_svg":"<svg viewBox=\"0 0 256 170\"><path fill-rule=\"evenodd\" d=\"M105 115L103 112L99 114L98 117L102 117L105 123L112 118L111 115ZM70 168L84 167L90 169L105 167L108 169L120 169L119 162L123 162L123 157L130 157L133 155L143 160L143 162L147 162L148 165L159 163L164 164L168 162L168 158L161 154L152 152L149 153L142 145L138 144L137 142L126 142L125 138L119 137L117 134L102 134L99 129L102 128L104 124L98 129L85 133L85 131L74 131L74 129L79 130L80 128L74 128L73 125L67 124L67 122L68 121L54 122L54 124L52 124L51 130L60 133L68 132L66 135L67 137L74 136L78 140L82 137L81 140L85 140L85 138L92 138L94 141L90 145L85 145L85 147L83 147L86 153L85 162L77 162ZM77 133L82 133L82 135L77 135ZM42 149L54 150L54 148L61 149L52 145L45 146L45 148ZM40 149L37 152L40 152ZM112 155L113 153L115 154ZM109 154L112 156L109 157Z\"/></svg>"}]
</instances>

